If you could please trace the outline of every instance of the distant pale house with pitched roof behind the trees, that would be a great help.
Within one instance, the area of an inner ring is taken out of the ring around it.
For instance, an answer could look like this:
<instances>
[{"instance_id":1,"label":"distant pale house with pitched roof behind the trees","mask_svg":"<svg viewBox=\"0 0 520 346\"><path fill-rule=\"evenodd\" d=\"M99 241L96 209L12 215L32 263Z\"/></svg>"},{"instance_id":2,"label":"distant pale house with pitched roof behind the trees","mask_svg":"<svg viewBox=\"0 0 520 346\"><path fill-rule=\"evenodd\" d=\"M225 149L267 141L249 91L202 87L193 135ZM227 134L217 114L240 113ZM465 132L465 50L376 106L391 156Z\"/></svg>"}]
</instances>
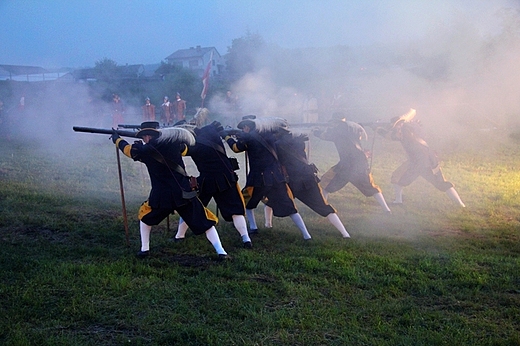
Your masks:
<instances>
[{"instance_id":1,"label":"distant pale house with pitched roof behind the trees","mask_svg":"<svg viewBox=\"0 0 520 346\"><path fill-rule=\"evenodd\" d=\"M191 69L197 72L199 77L202 77L210 59L210 74L212 76L221 74L224 68L224 62L215 47L197 46L189 49L179 49L175 53L166 57L166 62L171 65Z\"/></svg>"}]
</instances>

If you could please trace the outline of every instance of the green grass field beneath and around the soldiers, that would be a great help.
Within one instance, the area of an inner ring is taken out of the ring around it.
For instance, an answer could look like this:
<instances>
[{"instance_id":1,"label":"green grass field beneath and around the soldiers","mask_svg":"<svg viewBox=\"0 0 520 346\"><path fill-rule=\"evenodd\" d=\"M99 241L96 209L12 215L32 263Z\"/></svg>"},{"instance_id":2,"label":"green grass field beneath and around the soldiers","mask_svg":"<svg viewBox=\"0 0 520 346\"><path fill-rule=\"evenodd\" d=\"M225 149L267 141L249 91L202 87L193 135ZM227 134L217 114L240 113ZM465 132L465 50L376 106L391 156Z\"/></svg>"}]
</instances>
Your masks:
<instances>
[{"instance_id":1,"label":"green grass field beneath and around the soldiers","mask_svg":"<svg viewBox=\"0 0 520 346\"><path fill-rule=\"evenodd\" d=\"M127 246L105 137L2 143L0 344L520 345L518 142L443 150L465 209L418 180L385 215L349 185L330 201L351 239L298 204L312 241L275 219L246 250L221 221L233 257L221 263L203 236L171 241L177 216L152 232L150 258L135 257L147 173L121 158ZM313 140L322 172L330 152ZM374 178L389 202L403 158L376 142Z\"/></svg>"}]
</instances>

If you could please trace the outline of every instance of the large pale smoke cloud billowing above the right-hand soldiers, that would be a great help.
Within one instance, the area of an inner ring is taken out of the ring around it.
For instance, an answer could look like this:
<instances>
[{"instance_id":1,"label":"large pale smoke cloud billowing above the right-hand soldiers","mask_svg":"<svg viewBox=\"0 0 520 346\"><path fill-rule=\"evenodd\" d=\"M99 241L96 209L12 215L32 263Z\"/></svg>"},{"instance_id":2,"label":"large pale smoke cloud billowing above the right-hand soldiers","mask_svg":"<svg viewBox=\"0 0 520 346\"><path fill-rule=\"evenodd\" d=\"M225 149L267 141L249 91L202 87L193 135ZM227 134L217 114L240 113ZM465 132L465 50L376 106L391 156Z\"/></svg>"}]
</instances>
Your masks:
<instances>
[{"instance_id":1,"label":"large pale smoke cloud billowing above the right-hand soldiers","mask_svg":"<svg viewBox=\"0 0 520 346\"><path fill-rule=\"evenodd\" d=\"M420 39L288 49L285 60L273 59L279 49L267 44L253 62L257 72L232 90L243 114L297 123L310 93L318 99L320 121L330 118L335 97L358 122L388 121L415 108L439 145L471 147L475 133L502 136L519 125L520 12L507 5L494 6L492 13L458 7L448 19L424 18L431 25ZM297 85L295 74L301 78ZM211 105L223 107L222 100Z\"/></svg>"}]
</instances>

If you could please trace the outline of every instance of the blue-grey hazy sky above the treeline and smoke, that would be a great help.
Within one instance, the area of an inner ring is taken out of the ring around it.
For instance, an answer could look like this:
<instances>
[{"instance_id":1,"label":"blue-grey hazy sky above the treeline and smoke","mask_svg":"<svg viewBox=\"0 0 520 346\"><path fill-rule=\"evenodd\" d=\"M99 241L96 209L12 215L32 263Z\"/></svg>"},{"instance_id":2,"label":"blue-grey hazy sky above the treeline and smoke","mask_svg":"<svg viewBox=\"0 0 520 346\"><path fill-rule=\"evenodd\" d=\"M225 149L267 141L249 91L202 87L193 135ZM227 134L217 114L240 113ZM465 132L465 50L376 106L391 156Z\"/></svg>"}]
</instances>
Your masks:
<instances>
[{"instance_id":1,"label":"blue-grey hazy sky above the treeline and smoke","mask_svg":"<svg viewBox=\"0 0 520 346\"><path fill-rule=\"evenodd\" d=\"M0 0L0 64L153 64L178 49L225 54L249 30L283 48L421 38L455 17L483 35L518 0Z\"/></svg>"}]
</instances>

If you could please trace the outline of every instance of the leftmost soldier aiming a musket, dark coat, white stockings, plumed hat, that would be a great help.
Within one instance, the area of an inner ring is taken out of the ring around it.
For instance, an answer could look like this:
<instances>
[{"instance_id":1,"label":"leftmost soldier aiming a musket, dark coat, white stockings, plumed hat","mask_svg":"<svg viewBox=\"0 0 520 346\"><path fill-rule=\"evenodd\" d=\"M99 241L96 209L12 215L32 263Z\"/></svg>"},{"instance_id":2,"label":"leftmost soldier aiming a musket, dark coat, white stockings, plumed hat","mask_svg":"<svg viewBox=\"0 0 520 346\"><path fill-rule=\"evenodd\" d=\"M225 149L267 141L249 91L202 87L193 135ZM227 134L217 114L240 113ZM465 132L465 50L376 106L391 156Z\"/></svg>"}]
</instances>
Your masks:
<instances>
[{"instance_id":1,"label":"leftmost soldier aiming a musket, dark coat, white stockings, plumed hat","mask_svg":"<svg viewBox=\"0 0 520 346\"><path fill-rule=\"evenodd\" d=\"M228 255L223 249L215 224L217 217L204 207L192 191L186 175L182 154L195 139L186 129L159 129L158 122L144 122L136 137L142 141L129 144L114 130L112 141L126 156L146 165L152 189L148 199L139 208L141 250L143 258L149 255L152 226L158 225L175 211L189 225L193 233L206 234L219 259Z\"/></svg>"}]
</instances>

